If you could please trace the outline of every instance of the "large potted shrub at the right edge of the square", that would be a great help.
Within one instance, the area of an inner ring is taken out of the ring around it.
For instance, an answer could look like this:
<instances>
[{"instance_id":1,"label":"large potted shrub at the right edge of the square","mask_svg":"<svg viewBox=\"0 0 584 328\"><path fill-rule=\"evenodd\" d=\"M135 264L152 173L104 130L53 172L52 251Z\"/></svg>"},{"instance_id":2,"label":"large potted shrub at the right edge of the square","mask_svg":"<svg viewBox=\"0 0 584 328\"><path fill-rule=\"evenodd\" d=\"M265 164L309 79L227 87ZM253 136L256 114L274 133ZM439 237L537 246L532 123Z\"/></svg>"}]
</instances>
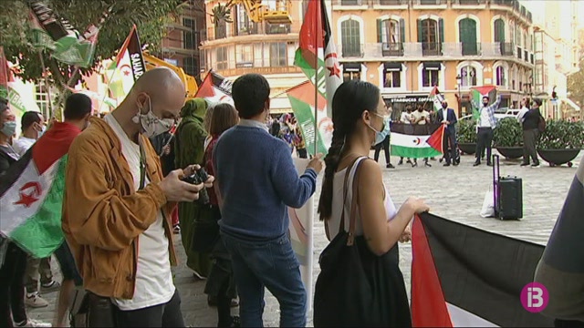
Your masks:
<instances>
[{"instance_id":1,"label":"large potted shrub at the right edge of the square","mask_svg":"<svg viewBox=\"0 0 584 328\"><path fill-rule=\"evenodd\" d=\"M537 141L537 154L550 166L572 166L584 146L584 123L562 119L547 120L546 129Z\"/></svg>"}]
</instances>

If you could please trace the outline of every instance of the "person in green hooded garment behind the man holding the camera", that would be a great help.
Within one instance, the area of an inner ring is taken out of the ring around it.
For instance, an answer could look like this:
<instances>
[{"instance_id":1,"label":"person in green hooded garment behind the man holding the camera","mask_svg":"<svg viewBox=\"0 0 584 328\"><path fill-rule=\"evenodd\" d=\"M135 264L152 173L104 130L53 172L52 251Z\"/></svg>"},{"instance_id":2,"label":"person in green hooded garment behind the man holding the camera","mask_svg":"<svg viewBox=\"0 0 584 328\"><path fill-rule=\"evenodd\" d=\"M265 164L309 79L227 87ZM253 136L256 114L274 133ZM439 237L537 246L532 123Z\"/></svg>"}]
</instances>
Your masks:
<instances>
[{"instance_id":1,"label":"person in green hooded garment behind the man holding the camera","mask_svg":"<svg viewBox=\"0 0 584 328\"><path fill-rule=\"evenodd\" d=\"M199 164L203 167L204 140L207 132L203 125L203 118L207 111L207 102L203 98L188 100L181 110L181 123L176 130L175 162L177 168L186 168L190 164ZM211 218L208 206L200 202L179 203L179 220L181 224L181 238L184 251L187 255L187 266L198 278L204 278L211 269L209 252L195 250L193 237L197 226Z\"/></svg>"}]
</instances>

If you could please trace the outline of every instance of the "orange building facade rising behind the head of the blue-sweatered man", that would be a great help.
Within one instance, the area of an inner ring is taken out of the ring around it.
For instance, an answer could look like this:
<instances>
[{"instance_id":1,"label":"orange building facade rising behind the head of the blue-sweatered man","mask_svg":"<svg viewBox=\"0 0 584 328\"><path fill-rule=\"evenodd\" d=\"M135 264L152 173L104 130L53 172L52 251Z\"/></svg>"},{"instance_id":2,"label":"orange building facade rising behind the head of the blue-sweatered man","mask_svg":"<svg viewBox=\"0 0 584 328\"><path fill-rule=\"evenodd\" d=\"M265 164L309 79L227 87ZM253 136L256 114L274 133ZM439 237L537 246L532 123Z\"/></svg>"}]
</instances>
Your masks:
<instances>
[{"instance_id":1,"label":"orange building facade rising behind the head of the blue-sweatered man","mask_svg":"<svg viewBox=\"0 0 584 328\"><path fill-rule=\"evenodd\" d=\"M250 1L248 3L253 3ZM206 11L224 1L206 0ZM233 23L221 21L215 25L213 17L207 16L206 37L201 46L201 68L211 68L230 80L246 73L265 76L272 87L271 112L290 112L285 91L306 81L307 77L294 66L298 47L298 32L308 0L264 0L267 10L287 10L291 24L254 22L245 9L244 1L231 8Z\"/></svg>"}]
</instances>

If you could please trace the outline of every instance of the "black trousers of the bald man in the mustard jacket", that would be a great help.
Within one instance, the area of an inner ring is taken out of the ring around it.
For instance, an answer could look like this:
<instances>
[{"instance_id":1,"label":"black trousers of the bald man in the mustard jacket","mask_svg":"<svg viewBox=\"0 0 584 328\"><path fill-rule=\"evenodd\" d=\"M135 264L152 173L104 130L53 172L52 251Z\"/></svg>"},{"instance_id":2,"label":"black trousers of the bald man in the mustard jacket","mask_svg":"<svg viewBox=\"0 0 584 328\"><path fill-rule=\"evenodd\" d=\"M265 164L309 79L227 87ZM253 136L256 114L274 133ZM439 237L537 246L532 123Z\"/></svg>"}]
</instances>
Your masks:
<instances>
[{"instance_id":1,"label":"black trousers of the bald man in the mustard jacket","mask_svg":"<svg viewBox=\"0 0 584 328\"><path fill-rule=\"evenodd\" d=\"M118 327L186 327L179 291L174 292L171 301L163 304L132 311L121 311L114 305L114 309Z\"/></svg>"}]
</instances>

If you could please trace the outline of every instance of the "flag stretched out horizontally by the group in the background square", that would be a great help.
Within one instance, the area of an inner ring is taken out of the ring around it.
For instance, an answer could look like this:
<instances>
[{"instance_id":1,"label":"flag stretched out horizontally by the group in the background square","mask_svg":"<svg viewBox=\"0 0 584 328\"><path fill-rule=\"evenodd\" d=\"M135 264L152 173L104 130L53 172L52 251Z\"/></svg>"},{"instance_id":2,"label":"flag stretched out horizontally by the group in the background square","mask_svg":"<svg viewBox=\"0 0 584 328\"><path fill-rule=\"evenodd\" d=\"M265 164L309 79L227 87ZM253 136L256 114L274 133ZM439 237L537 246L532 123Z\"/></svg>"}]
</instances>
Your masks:
<instances>
[{"instance_id":1,"label":"flag stretched out horizontally by the group in the background square","mask_svg":"<svg viewBox=\"0 0 584 328\"><path fill-rule=\"evenodd\" d=\"M443 153L443 124L391 125L391 156L427 159Z\"/></svg>"}]
</instances>

